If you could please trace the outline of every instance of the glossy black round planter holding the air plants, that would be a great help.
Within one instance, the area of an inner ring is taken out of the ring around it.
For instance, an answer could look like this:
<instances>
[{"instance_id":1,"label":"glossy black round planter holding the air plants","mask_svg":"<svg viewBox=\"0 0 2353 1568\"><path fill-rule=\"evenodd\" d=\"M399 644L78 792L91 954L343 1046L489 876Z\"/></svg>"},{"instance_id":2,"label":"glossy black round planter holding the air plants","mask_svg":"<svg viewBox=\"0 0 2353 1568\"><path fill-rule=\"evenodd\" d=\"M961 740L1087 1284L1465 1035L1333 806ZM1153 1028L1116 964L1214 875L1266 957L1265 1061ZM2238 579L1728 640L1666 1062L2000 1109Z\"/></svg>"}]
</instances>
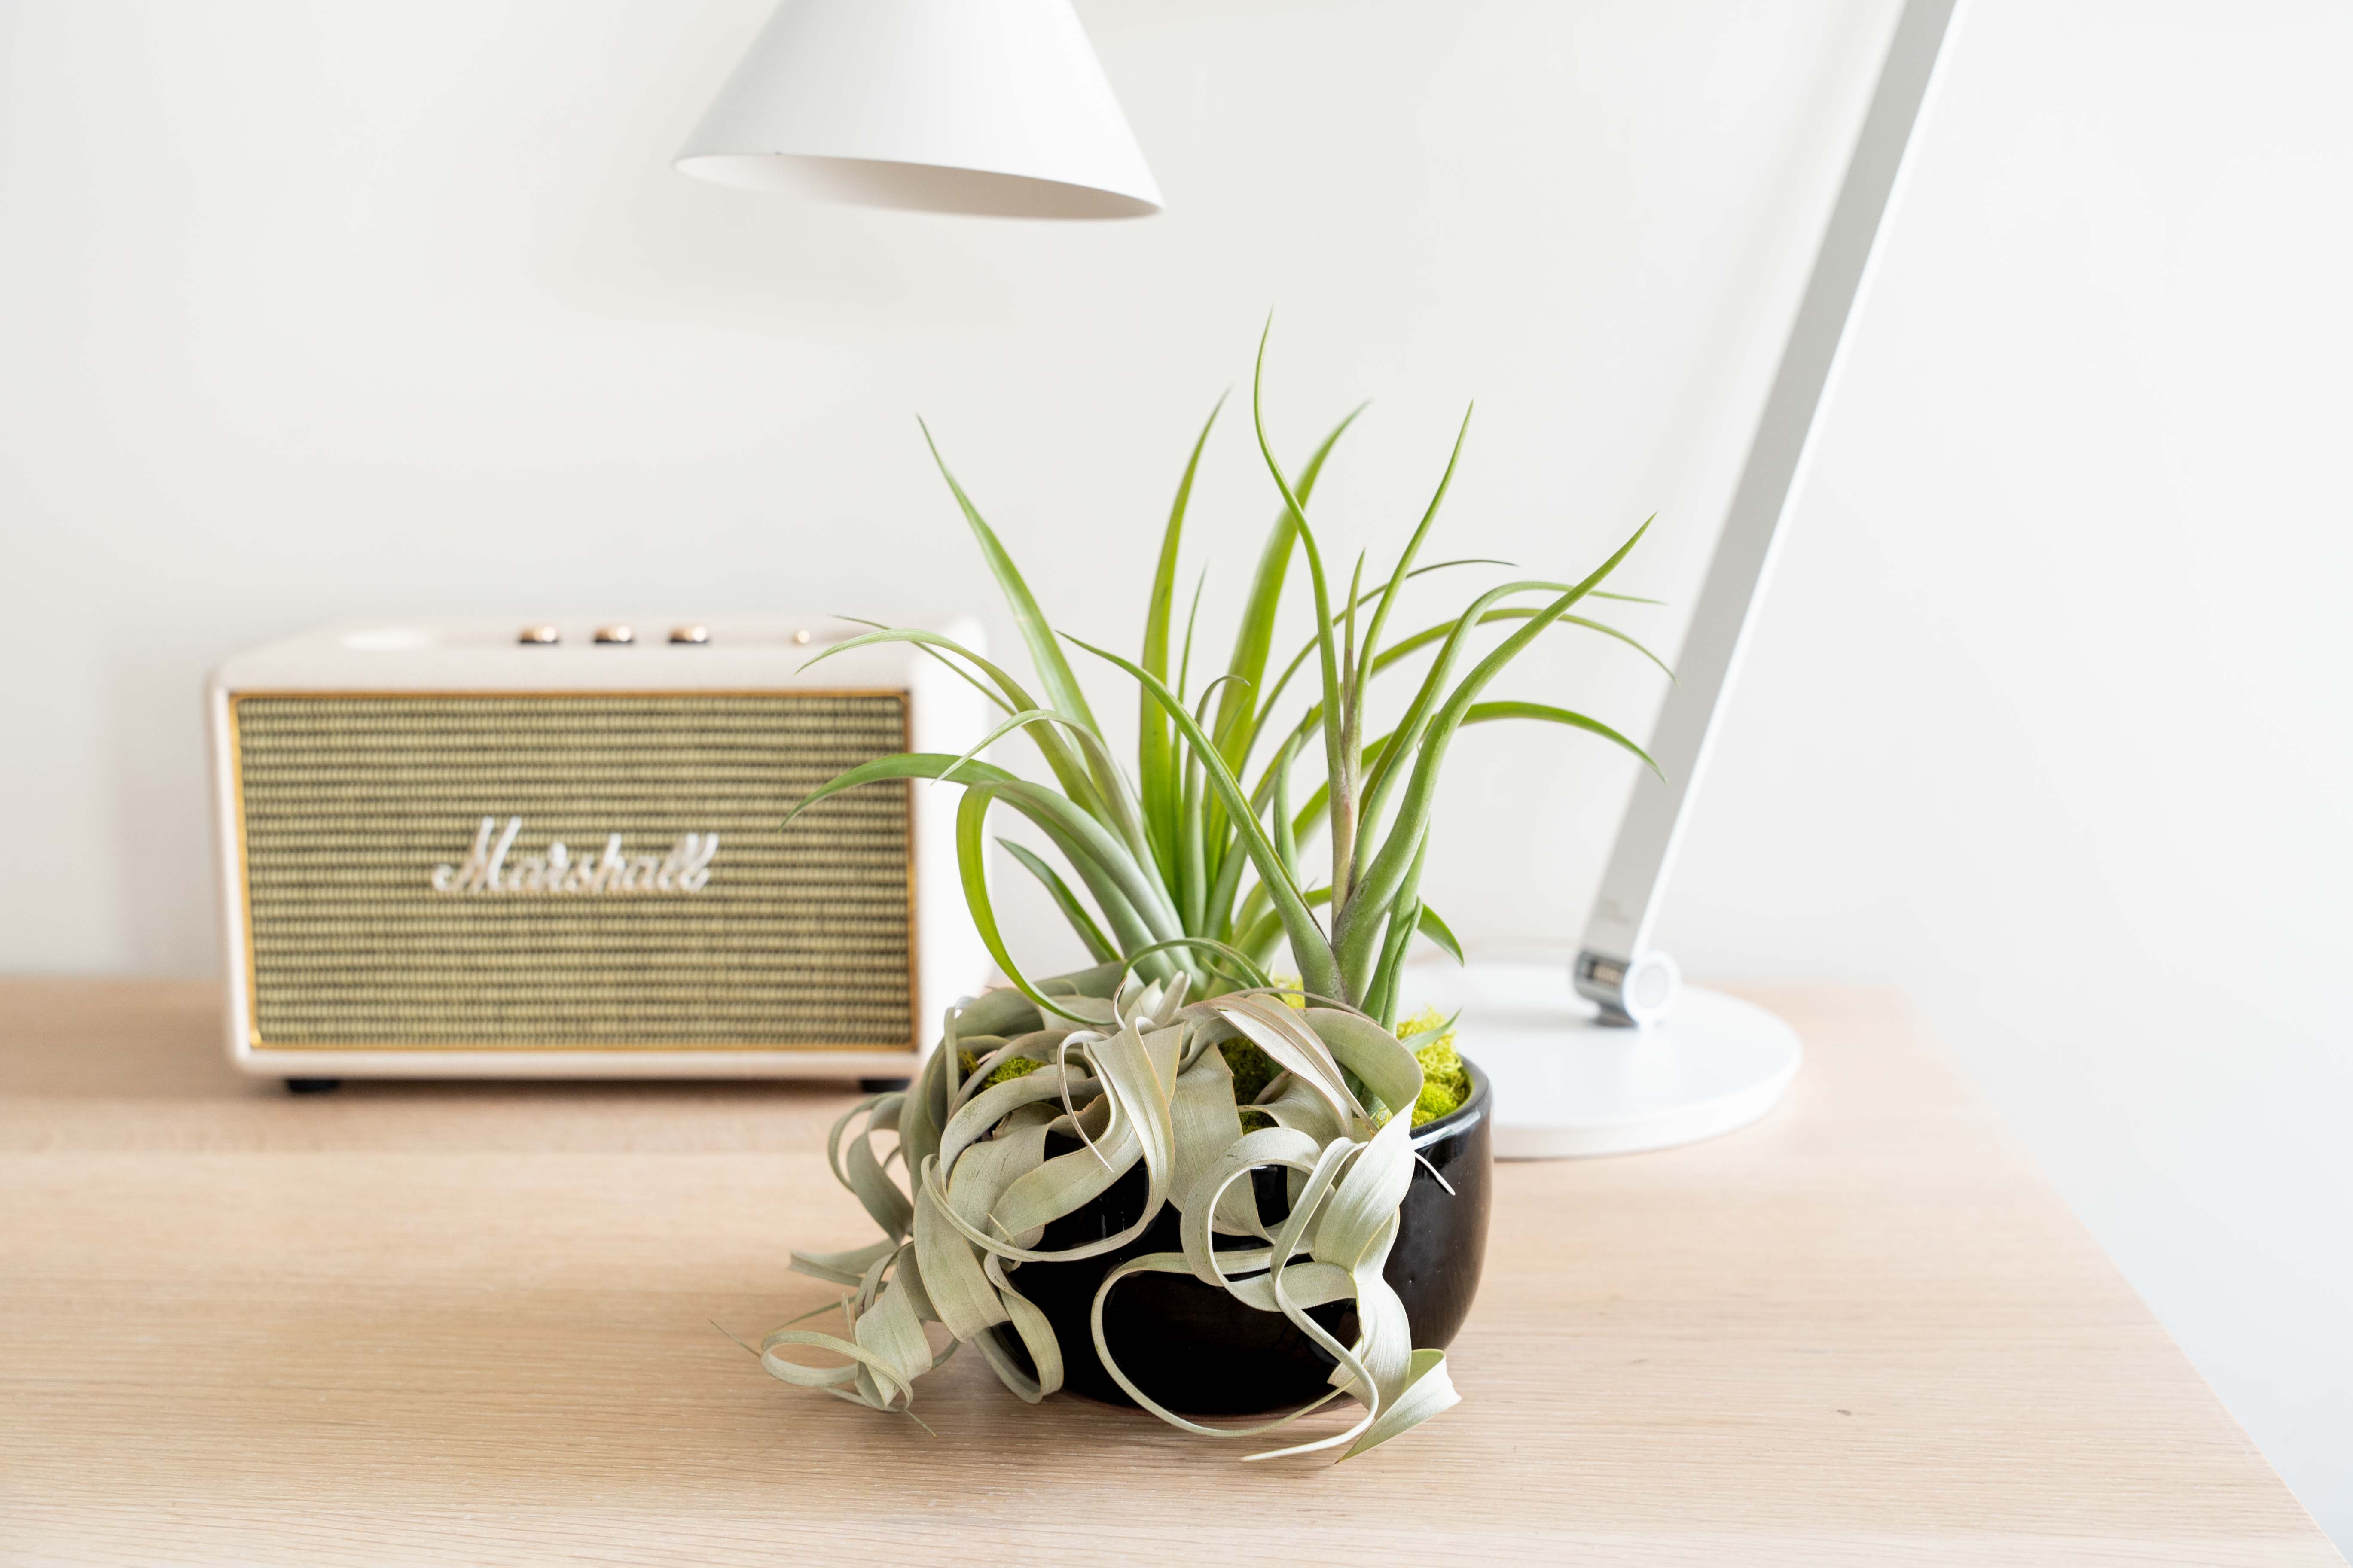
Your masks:
<instances>
[{"instance_id":1,"label":"glossy black round planter holding the air plants","mask_svg":"<svg viewBox=\"0 0 2353 1568\"><path fill-rule=\"evenodd\" d=\"M1398 1213L1398 1244L1384 1269L1405 1302L1417 1349L1442 1349L1454 1340L1471 1316L1480 1265L1487 1260L1492 1091L1475 1063L1466 1060L1464 1067L1471 1070L1471 1098L1454 1114L1414 1133L1414 1150L1428 1166L1414 1161L1414 1185ZM1075 1150L1078 1143L1068 1147ZM1259 1171L1257 1180L1261 1213L1280 1213L1282 1173ZM1136 1166L1104 1197L1047 1225L1038 1246L1059 1251L1099 1241L1127 1229L1141 1213L1144 1168ZM1252 1241L1219 1237L1217 1246L1245 1248ZM1094 1291L1120 1262L1174 1251L1181 1251L1181 1241L1176 1208L1169 1206L1151 1229L1118 1251L1085 1262L1024 1262L1012 1274L1014 1286L1054 1324L1068 1392L1134 1403L1094 1354ZM1355 1307L1348 1302L1315 1307L1311 1316L1341 1342L1355 1338ZM1257 1415L1304 1403L1332 1387L1332 1356L1280 1312L1245 1307L1191 1274L1122 1279L1104 1302L1104 1338L1136 1387L1186 1415ZM1021 1356L1019 1340L1014 1354Z\"/></svg>"}]
</instances>

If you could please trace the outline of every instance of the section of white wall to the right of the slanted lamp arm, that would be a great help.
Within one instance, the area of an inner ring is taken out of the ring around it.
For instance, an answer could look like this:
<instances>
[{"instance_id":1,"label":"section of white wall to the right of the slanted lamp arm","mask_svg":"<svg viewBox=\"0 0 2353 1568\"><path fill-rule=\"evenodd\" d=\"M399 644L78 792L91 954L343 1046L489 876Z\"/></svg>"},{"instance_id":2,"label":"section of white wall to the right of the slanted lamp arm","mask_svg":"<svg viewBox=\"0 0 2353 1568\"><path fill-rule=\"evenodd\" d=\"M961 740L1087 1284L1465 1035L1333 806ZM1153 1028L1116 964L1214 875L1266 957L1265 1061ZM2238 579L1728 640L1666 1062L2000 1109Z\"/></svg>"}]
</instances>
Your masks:
<instances>
[{"instance_id":1,"label":"section of white wall to the right of the slanted lamp arm","mask_svg":"<svg viewBox=\"0 0 2353 1568\"><path fill-rule=\"evenodd\" d=\"M2353 1549L2346 59L1974 7L1661 936L1904 985Z\"/></svg>"}]
</instances>

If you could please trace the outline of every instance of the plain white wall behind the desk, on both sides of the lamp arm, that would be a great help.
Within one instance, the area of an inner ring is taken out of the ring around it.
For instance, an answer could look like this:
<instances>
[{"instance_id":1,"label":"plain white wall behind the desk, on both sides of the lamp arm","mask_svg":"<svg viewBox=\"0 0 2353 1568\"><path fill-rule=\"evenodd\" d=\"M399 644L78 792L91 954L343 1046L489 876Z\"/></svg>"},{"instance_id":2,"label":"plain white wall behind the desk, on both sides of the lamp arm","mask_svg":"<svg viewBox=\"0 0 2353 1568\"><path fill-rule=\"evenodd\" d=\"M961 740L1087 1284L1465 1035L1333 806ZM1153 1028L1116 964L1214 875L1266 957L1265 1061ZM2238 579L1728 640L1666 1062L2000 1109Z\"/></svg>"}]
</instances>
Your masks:
<instances>
[{"instance_id":1,"label":"plain white wall behind the desk, on both sides of the lamp arm","mask_svg":"<svg viewBox=\"0 0 2353 1568\"><path fill-rule=\"evenodd\" d=\"M1631 581L1687 604L1894 5L1087 0L1169 195L1101 228L671 174L762 14L0 7L0 811L42 825L0 969L209 969L195 684L301 625L1009 642L915 411L1049 609L1132 642L1268 306L1289 449L1377 400L1334 543L1402 536L1475 395L1447 552L1569 571L1657 510ZM2348 42L2318 0L1979 0L1664 931L1908 987L2339 1540ZM1233 421L1212 590L1268 515ZM1518 689L1659 696L1569 642ZM1433 900L1567 945L1626 783L1473 733Z\"/></svg>"}]
</instances>

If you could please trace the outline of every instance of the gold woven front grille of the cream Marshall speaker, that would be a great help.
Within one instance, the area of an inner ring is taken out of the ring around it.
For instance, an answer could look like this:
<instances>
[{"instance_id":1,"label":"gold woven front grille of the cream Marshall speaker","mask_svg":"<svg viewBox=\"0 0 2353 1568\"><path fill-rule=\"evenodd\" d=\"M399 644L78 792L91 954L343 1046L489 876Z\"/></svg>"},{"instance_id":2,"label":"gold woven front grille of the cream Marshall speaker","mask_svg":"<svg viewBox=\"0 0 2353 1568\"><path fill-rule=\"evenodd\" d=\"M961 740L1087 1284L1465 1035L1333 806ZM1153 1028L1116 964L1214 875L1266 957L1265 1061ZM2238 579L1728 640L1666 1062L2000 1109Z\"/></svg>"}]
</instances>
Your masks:
<instances>
[{"instance_id":1,"label":"gold woven front grille of the cream Marshall speaker","mask_svg":"<svg viewBox=\"0 0 2353 1568\"><path fill-rule=\"evenodd\" d=\"M901 691L240 693L231 736L256 1048L913 1046L908 788L779 832L906 750ZM485 818L508 886L555 842L718 851L694 891L435 891Z\"/></svg>"}]
</instances>

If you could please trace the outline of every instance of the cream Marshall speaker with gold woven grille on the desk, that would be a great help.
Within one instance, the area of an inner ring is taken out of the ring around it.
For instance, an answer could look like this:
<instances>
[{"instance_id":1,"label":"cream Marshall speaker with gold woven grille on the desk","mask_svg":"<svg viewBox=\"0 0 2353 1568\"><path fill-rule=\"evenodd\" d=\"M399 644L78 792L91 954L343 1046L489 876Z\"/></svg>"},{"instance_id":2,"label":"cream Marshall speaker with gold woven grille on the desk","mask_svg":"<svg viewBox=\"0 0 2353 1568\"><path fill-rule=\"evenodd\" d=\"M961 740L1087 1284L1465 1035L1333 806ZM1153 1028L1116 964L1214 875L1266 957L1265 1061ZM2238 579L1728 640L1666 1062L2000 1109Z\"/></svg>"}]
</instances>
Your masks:
<instances>
[{"instance_id":1,"label":"cream Marshall speaker with gold woven grille on the desk","mask_svg":"<svg viewBox=\"0 0 2353 1568\"><path fill-rule=\"evenodd\" d=\"M254 1074L906 1077L988 957L955 790L979 693L861 628L398 625L212 677L231 1056ZM979 628L944 630L979 646Z\"/></svg>"}]
</instances>

